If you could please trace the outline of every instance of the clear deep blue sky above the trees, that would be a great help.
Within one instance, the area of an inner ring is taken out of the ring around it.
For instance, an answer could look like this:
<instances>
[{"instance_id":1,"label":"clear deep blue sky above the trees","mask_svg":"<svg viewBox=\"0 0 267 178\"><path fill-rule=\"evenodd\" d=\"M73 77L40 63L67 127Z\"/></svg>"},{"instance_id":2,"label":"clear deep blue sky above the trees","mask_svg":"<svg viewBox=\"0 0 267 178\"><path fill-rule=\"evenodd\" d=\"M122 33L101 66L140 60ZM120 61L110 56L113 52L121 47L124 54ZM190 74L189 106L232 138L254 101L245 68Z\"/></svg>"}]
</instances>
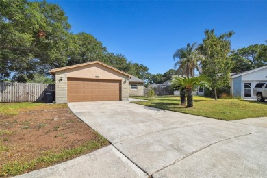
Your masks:
<instances>
[{"instance_id":1,"label":"clear deep blue sky above the trees","mask_svg":"<svg viewBox=\"0 0 267 178\"><path fill-rule=\"evenodd\" d=\"M205 29L234 31L231 48L264 44L267 1L71 1L48 0L66 12L71 32L92 34L112 53L165 73L173 53L201 43Z\"/></svg>"}]
</instances>

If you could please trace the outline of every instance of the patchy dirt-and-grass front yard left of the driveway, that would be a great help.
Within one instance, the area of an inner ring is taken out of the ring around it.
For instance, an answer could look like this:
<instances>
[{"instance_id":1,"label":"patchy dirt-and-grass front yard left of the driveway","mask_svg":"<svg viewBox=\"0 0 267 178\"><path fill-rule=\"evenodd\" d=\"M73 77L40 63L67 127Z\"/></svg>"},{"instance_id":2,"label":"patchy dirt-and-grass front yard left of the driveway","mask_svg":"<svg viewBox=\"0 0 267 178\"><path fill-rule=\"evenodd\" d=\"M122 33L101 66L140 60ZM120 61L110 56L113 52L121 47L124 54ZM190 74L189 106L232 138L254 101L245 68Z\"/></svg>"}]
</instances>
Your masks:
<instances>
[{"instance_id":1,"label":"patchy dirt-and-grass front yard left of the driveway","mask_svg":"<svg viewBox=\"0 0 267 178\"><path fill-rule=\"evenodd\" d=\"M58 164L108 144L65 104L0 103L0 177Z\"/></svg>"}]
</instances>

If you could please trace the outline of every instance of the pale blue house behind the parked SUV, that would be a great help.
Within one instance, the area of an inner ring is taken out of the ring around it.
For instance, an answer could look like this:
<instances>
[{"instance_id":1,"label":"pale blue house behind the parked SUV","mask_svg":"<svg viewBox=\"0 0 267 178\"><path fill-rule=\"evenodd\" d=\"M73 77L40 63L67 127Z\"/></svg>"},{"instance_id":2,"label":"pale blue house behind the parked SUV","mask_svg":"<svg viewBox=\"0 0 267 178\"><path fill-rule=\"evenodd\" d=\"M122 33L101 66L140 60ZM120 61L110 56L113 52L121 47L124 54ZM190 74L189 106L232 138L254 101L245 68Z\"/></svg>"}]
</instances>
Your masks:
<instances>
[{"instance_id":1,"label":"pale blue house behind the parked SUV","mask_svg":"<svg viewBox=\"0 0 267 178\"><path fill-rule=\"evenodd\" d=\"M230 94L233 97L256 99L256 96L254 96L252 92L255 85L260 81L267 81L267 66L262 66L251 71L231 75Z\"/></svg>"}]
</instances>

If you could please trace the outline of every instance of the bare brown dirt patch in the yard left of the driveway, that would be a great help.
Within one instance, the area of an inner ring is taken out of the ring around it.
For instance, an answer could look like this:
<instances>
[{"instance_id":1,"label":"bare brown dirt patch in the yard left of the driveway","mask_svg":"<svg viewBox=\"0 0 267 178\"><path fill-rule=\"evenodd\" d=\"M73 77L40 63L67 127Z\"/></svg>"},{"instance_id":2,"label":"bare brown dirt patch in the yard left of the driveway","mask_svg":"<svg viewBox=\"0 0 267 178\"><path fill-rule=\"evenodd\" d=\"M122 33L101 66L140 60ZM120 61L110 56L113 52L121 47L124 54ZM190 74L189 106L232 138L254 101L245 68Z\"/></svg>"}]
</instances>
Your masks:
<instances>
[{"instance_id":1,"label":"bare brown dirt patch in the yard left of the driveway","mask_svg":"<svg viewBox=\"0 0 267 178\"><path fill-rule=\"evenodd\" d=\"M99 140L99 135L79 120L66 105L43 104L22 108L15 116L0 114L0 160L2 166L4 164L11 165L14 162L22 164L31 162L42 155L61 153L92 141L100 141L101 147L108 144L106 140L104 142ZM99 146L96 147L95 149L98 149ZM82 153L92 150L85 150ZM78 155L81 153L79 152L71 158ZM65 157L56 163L69 158ZM52 162L52 164L54 163ZM24 168L22 173L50 164L51 162L45 165L38 163L31 168ZM16 175L17 173L3 175Z\"/></svg>"}]
</instances>

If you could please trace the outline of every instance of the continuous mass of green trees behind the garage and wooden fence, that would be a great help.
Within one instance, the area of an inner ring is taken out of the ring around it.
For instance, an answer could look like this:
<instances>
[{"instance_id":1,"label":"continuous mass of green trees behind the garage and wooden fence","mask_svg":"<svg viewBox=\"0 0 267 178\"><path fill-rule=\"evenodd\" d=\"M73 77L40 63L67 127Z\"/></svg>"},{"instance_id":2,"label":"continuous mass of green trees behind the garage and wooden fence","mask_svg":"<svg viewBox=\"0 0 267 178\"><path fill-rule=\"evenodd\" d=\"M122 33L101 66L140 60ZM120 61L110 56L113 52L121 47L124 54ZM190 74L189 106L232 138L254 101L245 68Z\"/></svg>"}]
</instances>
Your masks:
<instances>
[{"instance_id":1,"label":"continuous mass of green trees behind the garage and wooden fence","mask_svg":"<svg viewBox=\"0 0 267 178\"><path fill-rule=\"evenodd\" d=\"M99 60L149 79L149 68L128 61L103 47L91 34L71 34L68 17L60 6L46 1L0 1L0 81L34 81L36 73Z\"/></svg>"}]
</instances>

